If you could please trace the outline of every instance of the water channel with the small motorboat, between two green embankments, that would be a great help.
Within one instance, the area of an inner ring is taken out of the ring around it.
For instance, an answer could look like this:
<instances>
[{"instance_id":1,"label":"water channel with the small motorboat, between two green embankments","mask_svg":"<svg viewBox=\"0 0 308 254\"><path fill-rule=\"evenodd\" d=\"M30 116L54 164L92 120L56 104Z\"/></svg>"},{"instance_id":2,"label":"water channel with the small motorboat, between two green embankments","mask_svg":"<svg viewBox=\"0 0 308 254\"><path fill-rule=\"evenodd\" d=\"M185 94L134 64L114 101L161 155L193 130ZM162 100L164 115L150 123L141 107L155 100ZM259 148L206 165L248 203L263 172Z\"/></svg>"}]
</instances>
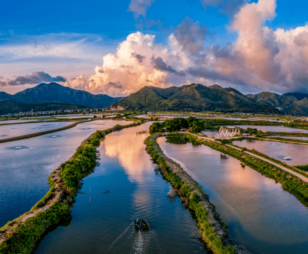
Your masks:
<instances>
[{"instance_id":1,"label":"water channel with the small motorboat, between two green embankments","mask_svg":"<svg viewBox=\"0 0 308 254\"><path fill-rule=\"evenodd\" d=\"M168 198L171 186L154 170L144 149L149 134L136 134L150 124L106 136L100 166L83 180L85 194L76 197L71 223L48 233L35 254L206 253L194 237L196 221L179 198ZM136 216L150 229L135 230Z\"/></svg>"}]
</instances>

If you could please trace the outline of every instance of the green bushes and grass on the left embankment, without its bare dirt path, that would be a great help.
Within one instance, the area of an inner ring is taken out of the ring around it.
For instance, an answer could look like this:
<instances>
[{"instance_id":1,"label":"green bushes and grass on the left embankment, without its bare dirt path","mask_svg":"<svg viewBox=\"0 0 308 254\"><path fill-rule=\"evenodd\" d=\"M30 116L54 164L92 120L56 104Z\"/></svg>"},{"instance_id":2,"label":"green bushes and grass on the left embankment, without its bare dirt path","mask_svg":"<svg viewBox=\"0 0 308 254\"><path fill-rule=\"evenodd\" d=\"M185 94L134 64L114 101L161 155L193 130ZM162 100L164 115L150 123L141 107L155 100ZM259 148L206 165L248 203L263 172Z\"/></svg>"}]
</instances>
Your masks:
<instances>
[{"instance_id":1,"label":"green bushes and grass on the left embankment, without its bare dirt path","mask_svg":"<svg viewBox=\"0 0 308 254\"><path fill-rule=\"evenodd\" d=\"M64 186L62 185L61 187L68 190L71 195L67 196L67 199L73 200L76 196L75 187L77 184L95 168L99 156L96 147L99 146L100 140L112 131L133 127L140 123L141 122L134 122L124 126L117 124L107 130L96 131L77 148L70 160L61 164L62 172L60 176L65 182ZM49 184L51 188L55 187L52 181L49 181ZM49 195L45 195L30 211L41 207L43 201L49 199L51 191L48 191L47 194L48 193ZM18 220L19 219L21 218L18 218ZM12 234L0 243L0 253L29 254L34 249L37 240L47 228L57 226L59 223L66 222L70 219L70 204L68 204L67 200L63 200L62 203L58 201L54 202L46 211L37 212L33 217L26 219L24 222L15 219L1 228L5 231L6 227L12 227L9 229ZM17 224L18 227L14 228L14 224Z\"/></svg>"}]
</instances>

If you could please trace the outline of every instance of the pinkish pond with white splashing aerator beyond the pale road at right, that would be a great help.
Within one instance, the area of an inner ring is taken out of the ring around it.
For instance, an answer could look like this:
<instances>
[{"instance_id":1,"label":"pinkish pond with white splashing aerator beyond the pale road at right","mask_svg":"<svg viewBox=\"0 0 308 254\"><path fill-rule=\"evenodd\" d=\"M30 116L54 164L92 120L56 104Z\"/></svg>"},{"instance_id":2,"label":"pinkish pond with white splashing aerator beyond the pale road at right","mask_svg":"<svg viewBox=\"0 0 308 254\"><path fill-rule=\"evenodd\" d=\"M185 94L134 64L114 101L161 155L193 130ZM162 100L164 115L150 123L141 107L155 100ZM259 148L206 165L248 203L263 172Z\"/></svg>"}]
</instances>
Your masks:
<instances>
[{"instance_id":1,"label":"pinkish pond with white splashing aerator beyond the pale road at right","mask_svg":"<svg viewBox=\"0 0 308 254\"><path fill-rule=\"evenodd\" d=\"M308 164L308 145L256 139L233 141L233 144L239 147L255 149L292 166Z\"/></svg>"}]
</instances>

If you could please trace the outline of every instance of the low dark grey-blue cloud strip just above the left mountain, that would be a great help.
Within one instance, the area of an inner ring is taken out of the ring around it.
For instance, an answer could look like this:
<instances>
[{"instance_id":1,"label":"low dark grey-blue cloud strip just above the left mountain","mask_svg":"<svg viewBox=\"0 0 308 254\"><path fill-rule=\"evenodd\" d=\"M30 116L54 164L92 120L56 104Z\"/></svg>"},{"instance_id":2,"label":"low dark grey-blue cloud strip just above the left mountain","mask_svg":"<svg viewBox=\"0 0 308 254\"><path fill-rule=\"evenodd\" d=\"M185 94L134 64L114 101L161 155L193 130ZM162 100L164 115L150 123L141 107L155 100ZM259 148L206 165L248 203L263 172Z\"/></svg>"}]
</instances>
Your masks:
<instances>
[{"instance_id":1,"label":"low dark grey-blue cloud strip just above the left mountain","mask_svg":"<svg viewBox=\"0 0 308 254\"><path fill-rule=\"evenodd\" d=\"M48 73L44 71L34 71L32 75L26 76L18 76L14 80L7 80L6 82L1 82L1 86L18 86L18 85L25 85L25 84L39 84L44 82L65 82L65 78L62 76L52 77Z\"/></svg>"}]
</instances>

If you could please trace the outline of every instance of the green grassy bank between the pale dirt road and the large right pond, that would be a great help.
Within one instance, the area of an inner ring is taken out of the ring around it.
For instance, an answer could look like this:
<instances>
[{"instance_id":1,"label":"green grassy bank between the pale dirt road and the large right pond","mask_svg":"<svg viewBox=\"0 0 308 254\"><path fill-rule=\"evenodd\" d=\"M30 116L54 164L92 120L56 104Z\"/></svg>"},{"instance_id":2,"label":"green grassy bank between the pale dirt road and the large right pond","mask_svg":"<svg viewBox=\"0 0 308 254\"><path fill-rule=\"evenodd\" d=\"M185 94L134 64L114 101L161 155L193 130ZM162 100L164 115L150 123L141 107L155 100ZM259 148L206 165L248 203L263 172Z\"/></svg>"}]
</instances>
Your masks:
<instances>
[{"instance_id":1,"label":"green grassy bank between the pale dirt road and the large right pond","mask_svg":"<svg viewBox=\"0 0 308 254\"><path fill-rule=\"evenodd\" d=\"M198 139L196 136L184 134L189 139ZM241 151L237 150L236 148L232 148L229 146L222 145L220 143L216 143L214 141L209 140L200 140L198 139L200 143L203 143L204 145L211 147L214 150L220 151L222 153L225 153L227 155L230 155L241 162L243 162L245 165L253 168L254 170L260 172L262 175L265 175L268 178L272 178L276 180L277 182L282 184L282 188L291 194L293 194L303 205L308 207L308 183L302 181L298 177L291 175L289 172L282 170L279 167L276 167L264 160L261 160L259 158L256 158L252 155L248 155L245 153L244 150L241 147ZM248 150L247 150L248 151ZM259 155L259 153L257 154ZM261 155L260 155L261 156ZM265 155L266 159L270 159ZM275 159L271 158L272 161L275 163L278 163ZM279 161L280 162L280 161ZM286 167L287 165L285 163L280 162L282 166ZM294 169L292 169L294 170ZM295 171L295 170L294 170ZM306 176L306 175L305 175Z\"/></svg>"}]
</instances>

